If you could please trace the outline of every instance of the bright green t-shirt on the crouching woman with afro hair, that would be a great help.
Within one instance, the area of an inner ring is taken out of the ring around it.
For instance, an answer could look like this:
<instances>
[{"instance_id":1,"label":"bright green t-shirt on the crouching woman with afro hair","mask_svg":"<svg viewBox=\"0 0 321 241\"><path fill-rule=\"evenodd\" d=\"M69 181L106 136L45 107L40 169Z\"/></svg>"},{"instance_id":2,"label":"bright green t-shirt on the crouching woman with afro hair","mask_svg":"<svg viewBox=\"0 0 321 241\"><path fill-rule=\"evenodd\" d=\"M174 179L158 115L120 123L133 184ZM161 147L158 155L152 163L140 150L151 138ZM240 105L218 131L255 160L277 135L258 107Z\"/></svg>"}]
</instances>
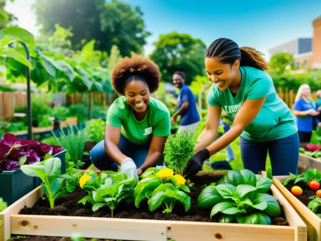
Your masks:
<instances>
[{"instance_id":1,"label":"bright green t-shirt on the crouching woman with afro hair","mask_svg":"<svg viewBox=\"0 0 321 241\"><path fill-rule=\"evenodd\" d=\"M143 121L137 121L125 96L117 98L109 107L107 124L121 127L121 133L136 145L148 145L152 135L164 137L170 134L170 115L165 104L152 96Z\"/></svg>"}]
</instances>

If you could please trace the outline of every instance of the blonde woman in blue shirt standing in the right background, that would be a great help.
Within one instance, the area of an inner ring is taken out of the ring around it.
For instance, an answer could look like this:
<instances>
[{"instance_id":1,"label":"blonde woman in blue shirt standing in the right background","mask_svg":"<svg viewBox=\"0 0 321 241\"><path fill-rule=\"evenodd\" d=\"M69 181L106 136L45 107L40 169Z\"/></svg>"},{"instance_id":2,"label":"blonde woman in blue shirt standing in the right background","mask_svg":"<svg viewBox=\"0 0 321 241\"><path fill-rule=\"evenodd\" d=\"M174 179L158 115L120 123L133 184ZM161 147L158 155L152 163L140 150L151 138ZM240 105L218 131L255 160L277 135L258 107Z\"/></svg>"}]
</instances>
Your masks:
<instances>
[{"instance_id":1,"label":"blonde woman in blue shirt standing in the right background","mask_svg":"<svg viewBox=\"0 0 321 241\"><path fill-rule=\"evenodd\" d=\"M320 114L320 112L316 110L310 94L311 89L308 84L300 85L293 106L293 114L296 116L300 143L310 142L313 130L313 117Z\"/></svg>"}]
</instances>

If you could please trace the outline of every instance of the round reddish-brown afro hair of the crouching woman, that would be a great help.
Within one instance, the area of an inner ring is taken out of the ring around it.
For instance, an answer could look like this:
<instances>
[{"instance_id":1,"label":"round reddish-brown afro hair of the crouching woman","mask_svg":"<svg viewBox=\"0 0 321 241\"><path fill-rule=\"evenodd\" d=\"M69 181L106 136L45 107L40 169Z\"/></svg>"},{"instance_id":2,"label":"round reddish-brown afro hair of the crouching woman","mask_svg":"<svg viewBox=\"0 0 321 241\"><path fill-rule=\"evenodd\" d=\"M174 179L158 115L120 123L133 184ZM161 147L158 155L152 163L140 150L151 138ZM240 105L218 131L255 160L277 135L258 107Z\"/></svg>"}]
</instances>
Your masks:
<instances>
[{"instance_id":1,"label":"round reddish-brown afro hair of the crouching woman","mask_svg":"<svg viewBox=\"0 0 321 241\"><path fill-rule=\"evenodd\" d=\"M155 92L160 83L159 67L149 58L133 54L132 58L125 57L111 72L113 89L124 94L126 85L132 80L144 81L151 93Z\"/></svg>"}]
</instances>

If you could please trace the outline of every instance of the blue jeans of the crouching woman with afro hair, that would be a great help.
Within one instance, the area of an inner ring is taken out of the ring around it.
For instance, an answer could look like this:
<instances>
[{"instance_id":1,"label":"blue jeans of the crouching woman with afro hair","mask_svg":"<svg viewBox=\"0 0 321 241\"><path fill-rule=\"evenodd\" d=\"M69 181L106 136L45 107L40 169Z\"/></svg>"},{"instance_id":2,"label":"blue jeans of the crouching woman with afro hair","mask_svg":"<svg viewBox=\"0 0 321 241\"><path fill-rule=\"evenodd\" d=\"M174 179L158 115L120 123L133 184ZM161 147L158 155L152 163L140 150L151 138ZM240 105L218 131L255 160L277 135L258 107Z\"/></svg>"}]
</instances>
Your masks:
<instances>
[{"instance_id":1,"label":"blue jeans of the crouching woman with afro hair","mask_svg":"<svg viewBox=\"0 0 321 241\"><path fill-rule=\"evenodd\" d=\"M123 135L120 135L119 150L125 155L133 159L137 168L143 165L146 156L148 154L149 144L146 146L138 146L129 141ZM105 153L104 140L98 142L90 151L90 159L92 164L97 167L100 171L115 171L118 170L118 164L114 162L107 154ZM161 156L157 165L162 165L164 155Z\"/></svg>"}]
</instances>

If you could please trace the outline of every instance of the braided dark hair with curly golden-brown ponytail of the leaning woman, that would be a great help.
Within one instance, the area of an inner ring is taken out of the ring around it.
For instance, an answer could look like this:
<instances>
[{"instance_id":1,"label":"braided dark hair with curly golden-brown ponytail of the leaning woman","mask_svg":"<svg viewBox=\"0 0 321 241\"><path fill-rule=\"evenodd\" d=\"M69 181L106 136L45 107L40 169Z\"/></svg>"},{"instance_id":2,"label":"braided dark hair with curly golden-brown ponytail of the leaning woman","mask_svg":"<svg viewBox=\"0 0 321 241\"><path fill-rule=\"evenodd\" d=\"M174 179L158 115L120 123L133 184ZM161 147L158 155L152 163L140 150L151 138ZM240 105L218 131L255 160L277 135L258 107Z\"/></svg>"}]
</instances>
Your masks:
<instances>
[{"instance_id":1,"label":"braided dark hair with curly golden-brown ponytail of the leaning woman","mask_svg":"<svg viewBox=\"0 0 321 241\"><path fill-rule=\"evenodd\" d=\"M268 70L269 65L262 57L263 53L251 47L241 47L236 42L226 38L215 40L206 50L205 58L219 58L223 64L232 65L240 60L240 66L250 66L261 70Z\"/></svg>"}]
</instances>

